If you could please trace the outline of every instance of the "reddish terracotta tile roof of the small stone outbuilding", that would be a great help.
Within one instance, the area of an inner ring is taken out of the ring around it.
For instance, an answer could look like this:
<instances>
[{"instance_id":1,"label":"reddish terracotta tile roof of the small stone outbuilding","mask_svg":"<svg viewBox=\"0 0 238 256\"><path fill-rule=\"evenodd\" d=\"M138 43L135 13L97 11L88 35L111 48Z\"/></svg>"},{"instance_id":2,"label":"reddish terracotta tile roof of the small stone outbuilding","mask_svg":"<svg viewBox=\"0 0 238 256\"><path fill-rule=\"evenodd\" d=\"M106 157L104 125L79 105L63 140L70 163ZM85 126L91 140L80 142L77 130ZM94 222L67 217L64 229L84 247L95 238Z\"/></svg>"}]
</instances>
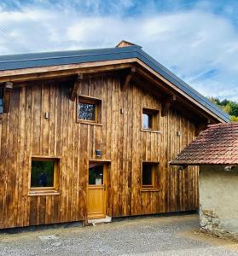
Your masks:
<instances>
[{"instance_id":1,"label":"reddish terracotta tile roof of the small stone outbuilding","mask_svg":"<svg viewBox=\"0 0 238 256\"><path fill-rule=\"evenodd\" d=\"M238 123L208 125L171 165L238 164Z\"/></svg>"}]
</instances>

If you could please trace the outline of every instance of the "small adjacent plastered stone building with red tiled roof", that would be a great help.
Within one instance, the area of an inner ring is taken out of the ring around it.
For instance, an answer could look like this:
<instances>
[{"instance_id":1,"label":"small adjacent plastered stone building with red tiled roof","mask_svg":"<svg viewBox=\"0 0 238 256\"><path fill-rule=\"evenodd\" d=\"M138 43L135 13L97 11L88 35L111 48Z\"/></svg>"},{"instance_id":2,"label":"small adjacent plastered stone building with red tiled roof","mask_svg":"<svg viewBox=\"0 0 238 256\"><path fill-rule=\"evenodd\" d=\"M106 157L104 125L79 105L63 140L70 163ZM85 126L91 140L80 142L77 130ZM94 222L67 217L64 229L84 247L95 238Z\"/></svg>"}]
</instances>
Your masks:
<instances>
[{"instance_id":1,"label":"small adjacent plastered stone building with red tiled roof","mask_svg":"<svg viewBox=\"0 0 238 256\"><path fill-rule=\"evenodd\" d=\"M238 236L238 123L208 125L171 165L200 166L200 226Z\"/></svg>"}]
</instances>

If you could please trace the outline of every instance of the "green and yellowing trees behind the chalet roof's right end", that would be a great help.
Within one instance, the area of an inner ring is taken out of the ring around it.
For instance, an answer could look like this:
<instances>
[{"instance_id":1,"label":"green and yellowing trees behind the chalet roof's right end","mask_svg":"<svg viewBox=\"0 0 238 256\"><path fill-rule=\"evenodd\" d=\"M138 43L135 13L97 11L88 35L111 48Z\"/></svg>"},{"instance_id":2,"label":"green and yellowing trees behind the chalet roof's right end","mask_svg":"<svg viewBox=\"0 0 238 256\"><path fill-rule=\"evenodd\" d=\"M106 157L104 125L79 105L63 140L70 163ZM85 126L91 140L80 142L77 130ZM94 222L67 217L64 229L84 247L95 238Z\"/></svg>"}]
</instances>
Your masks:
<instances>
[{"instance_id":1,"label":"green and yellowing trees behind the chalet roof's right end","mask_svg":"<svg viewBox=\"0 0 238 256\"><path fill-rule=\"evenodd\" d=\"M238 122L238 102L229 101L224 99L220 101L218 98L210 97L209 100L219 108L222 108L224 112L229 113L231 121Z\"/></svg>"}]
</instances>

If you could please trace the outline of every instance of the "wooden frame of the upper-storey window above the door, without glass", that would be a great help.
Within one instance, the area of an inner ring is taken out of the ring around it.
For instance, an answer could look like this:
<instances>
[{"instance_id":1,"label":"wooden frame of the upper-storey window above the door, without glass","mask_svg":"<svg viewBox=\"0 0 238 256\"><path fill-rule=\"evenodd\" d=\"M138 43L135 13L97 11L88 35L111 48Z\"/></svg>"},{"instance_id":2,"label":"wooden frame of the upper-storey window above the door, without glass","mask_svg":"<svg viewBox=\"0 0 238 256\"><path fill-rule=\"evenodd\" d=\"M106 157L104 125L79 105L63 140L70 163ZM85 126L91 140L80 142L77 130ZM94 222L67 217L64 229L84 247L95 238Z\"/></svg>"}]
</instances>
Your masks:
<instances>
[{"instance_id":1,"label":"wooden frame of the upper-storey window above the door, without glass","mask_svg":"<svg viewBox=\"0 0 238 256\"><path fill-rule=\"evenodd\" d=\"M82 102L85 104L94 104L95 105L95 119L87 120L87 119L79 119L79 109L78 103ZM102 125L102 100L96 97L78 95L77 97L77 123L88 124L88 125Z\"/></svg>"}]
</instances>

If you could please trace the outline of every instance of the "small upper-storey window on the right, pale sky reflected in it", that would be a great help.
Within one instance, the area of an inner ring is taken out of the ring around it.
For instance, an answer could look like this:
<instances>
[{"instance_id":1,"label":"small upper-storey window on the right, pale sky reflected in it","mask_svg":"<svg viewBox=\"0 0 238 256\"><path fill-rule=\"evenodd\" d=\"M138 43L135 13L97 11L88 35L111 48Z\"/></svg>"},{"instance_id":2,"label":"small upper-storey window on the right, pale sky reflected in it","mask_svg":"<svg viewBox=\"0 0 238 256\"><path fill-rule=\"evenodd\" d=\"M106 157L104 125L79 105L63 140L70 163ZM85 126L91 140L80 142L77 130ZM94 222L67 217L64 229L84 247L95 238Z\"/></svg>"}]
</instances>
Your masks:
<instances>
[{"instance_id":1,"label":"small upper-storey window on the right, pale sky reflected in it","mask_svg":"<svg viewBox=\"0 0 238 256\"><path fill-rule=\"evenodd\" d=\"M142 129L159 130L159 111L142 108Z\"/></svg>"}]
</instances>

